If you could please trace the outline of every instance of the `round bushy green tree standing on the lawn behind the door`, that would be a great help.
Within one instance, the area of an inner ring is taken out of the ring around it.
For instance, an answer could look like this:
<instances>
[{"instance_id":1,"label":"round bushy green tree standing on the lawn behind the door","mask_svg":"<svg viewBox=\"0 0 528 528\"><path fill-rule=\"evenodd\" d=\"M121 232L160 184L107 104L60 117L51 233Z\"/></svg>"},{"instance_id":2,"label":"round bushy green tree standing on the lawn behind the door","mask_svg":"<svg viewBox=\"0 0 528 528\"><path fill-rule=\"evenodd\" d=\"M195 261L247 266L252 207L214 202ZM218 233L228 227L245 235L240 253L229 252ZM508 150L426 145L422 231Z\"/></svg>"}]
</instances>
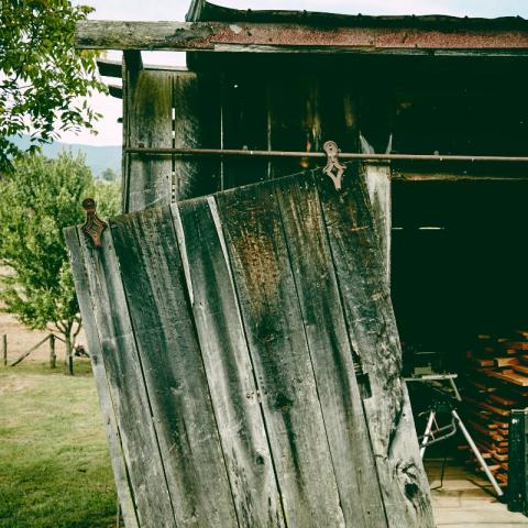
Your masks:
<instances>
[{"instance_id":1,"label":"round bushy green tree standing on the lawn behind the door","mask_svg":"<svg viewBox=\"0 0 528 528\"><path fill-rule=\"evenodd\" d=\"M57 160L19 160L0 193L0 262L11 270L0 277L0 299L28 327L64 337L73 374L81 320L62 231L84 222L80 202L87 196L101 202L101 216L117 213L118 186L96 183L81 156L63 153Z\"/></svg>"}]
</instances>

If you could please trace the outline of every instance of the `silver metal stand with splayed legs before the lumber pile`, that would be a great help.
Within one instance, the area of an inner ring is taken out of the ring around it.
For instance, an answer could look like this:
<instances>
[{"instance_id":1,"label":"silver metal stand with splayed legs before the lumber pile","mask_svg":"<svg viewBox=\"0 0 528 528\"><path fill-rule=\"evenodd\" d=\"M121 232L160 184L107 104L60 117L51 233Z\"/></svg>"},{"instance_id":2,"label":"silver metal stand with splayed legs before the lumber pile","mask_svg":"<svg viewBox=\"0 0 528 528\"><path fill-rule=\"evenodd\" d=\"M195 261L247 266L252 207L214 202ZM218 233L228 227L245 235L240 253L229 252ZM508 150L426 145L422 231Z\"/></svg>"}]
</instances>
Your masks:
<instances>
[{"instance_id":1,"label":"silver metal stand with splayed legs before the lumber pile","mask_svg":"<svg viewBox=\"0 0 528 528\"><path fill-rule=\"evenodd\" d=\"M475 442L471 438L471 435L465 428L464 422L462 421L459 414L457 413L457 409L453 405L455 399L451 398L447 394L442 395L440 391L435 391L435 392L439 393L440 397L433 402L431 408L429 409L429 417L427 419L426 430L424 432L424 436L420 437L420 457L424 458L424 454L428 446L431 446L432 443L436 443L436 442L440 442L441 440L446 440L447 438L452 437L457 432L457 430L460 430L464 436L465 440L468 441L468 444L470 446L474 455L476 457L476 460L479 460L481 468L486 474L497 496L498 497L504 496L504 493L501 490L501 486L498 485L497 481L493 476L493 473L490 471L490 468L487 466L486 461L482 457L482 453L479 451L479 448L476 447ZM437 422L438 411L450 413L451 422L447 426L439 427Z\"/></svg>"}]
</instances>

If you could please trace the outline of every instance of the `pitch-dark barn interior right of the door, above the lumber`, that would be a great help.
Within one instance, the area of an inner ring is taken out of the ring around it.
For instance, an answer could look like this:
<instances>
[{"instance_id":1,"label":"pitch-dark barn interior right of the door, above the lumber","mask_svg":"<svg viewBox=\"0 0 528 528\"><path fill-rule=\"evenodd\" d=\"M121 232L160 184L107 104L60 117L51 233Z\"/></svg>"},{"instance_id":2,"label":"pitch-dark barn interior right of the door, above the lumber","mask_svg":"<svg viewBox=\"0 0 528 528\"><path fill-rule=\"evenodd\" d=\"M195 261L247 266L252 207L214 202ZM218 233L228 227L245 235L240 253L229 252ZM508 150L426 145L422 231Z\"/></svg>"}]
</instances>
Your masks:
<instances>
[{"instance_id":1,"label":"pitch-dark barn interior right of the door, above the lumber","mask_svg":"<svg viewBox=\"0 0 528 528\"><path fill-rule=\"evenodd\" d=\"M525 182L393 184L392 297L400 338L459 372L475 336L526 328Z\"/></svg>"}]
</instances>

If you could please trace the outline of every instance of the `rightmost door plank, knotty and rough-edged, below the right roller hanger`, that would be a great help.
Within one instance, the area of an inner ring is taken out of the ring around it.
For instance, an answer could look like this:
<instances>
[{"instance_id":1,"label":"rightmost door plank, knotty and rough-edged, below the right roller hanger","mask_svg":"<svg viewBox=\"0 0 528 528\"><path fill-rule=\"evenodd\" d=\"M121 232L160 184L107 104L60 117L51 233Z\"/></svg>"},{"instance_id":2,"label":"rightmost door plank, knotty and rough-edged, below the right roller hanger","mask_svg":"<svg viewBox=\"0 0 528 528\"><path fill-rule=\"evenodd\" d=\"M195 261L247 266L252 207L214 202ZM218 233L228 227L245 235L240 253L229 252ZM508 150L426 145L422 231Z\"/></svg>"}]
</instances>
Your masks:
<instances>
[{"instance_id":1,"label":"rightmost door plank, knotty and rough-edged, below the right roller hanger","mask_svg":"<svg viewBox=\"0 0 528 528\"><path fill-rule=\"evenodd\" d=\"M350 340L370 386L363 402L389 526L433 527L363 174L349 175L341 193L322 176L318 188Z\"/></svg>"}]
</instances>

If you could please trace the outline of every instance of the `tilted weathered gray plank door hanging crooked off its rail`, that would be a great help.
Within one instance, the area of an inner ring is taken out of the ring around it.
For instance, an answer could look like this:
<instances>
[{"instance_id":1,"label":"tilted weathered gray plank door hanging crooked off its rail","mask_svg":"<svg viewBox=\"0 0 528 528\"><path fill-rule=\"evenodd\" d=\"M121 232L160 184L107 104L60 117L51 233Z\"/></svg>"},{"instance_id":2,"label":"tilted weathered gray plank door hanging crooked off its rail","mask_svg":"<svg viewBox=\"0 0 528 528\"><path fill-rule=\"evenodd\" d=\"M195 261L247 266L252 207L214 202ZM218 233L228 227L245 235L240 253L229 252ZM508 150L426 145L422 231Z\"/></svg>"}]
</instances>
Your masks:
<instances>
[{"instance_id":1,"label":"tilted weathered gray plank door hanging crooked off its rail","mask_svg":"<svg viewBox=\"0 0 528 528\"><path fill-rule=\"evenodd\" d=\"M361 174L66 238L127 526L432 527Z\"/></svg>"}]
</instances>

